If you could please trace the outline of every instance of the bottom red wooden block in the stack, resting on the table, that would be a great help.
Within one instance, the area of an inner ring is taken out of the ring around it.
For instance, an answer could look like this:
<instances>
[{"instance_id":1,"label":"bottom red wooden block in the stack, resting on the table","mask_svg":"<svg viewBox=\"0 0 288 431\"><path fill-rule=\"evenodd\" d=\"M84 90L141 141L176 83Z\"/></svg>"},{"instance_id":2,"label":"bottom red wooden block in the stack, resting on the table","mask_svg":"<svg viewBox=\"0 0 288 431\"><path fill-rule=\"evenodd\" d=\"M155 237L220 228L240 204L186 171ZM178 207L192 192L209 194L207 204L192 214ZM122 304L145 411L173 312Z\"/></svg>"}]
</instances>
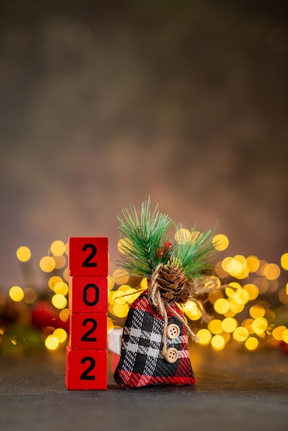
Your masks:
<instances>
[{"instance_id":1,"label":"bottom red wooden block in the stack, resting on the table","mask_svg":"<svg viewBox=\"0 0 288 431\"><path fill-rule=\"evenodd\" d=\"M107 350L67 346L65 386L70 390L107 389Z\"/></svg>"}]
</instances>

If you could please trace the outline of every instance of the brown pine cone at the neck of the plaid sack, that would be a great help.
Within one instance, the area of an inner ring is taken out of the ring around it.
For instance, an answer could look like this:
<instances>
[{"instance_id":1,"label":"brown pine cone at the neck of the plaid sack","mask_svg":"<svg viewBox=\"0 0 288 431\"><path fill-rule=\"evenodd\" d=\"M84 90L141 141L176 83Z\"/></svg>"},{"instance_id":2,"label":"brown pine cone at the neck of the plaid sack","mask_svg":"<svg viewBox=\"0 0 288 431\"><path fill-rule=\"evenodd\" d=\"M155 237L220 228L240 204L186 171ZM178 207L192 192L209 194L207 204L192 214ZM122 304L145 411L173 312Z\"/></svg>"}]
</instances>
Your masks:
<instances>
[{"instance_id":1,"label":"brown pine cone at the neck of the plaid sack","mask_svg":"<svg viewBox=\"0 0 288 431\"><path fill-rule=\"evenodd\" d=\"M157 278L160 293L167 302L185 304L191 293L192 284L183 273L183 268L172 264L164 265Z\"/></svg>"}]
</instances>

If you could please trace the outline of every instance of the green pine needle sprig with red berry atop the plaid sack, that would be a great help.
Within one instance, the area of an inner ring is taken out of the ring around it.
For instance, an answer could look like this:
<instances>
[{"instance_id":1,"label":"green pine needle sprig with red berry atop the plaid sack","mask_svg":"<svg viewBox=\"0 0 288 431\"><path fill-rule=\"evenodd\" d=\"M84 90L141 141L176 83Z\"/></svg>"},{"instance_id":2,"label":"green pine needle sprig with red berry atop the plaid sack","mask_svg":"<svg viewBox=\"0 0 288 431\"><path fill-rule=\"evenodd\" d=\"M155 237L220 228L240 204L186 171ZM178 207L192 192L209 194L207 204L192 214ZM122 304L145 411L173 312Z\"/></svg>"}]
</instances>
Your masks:
<instances>
[{"instance_id":1,"label":"green pine needle sprig with red berry atop the plaid sack","mask_svg":"<svg viewBox=\"0 0 288 431\"><path fill-rule=\"evenodd\" d=\"M169 239L168 229L175 222L168 215L158 211L158 205L151 213L151 200L141 204L141 213L136 208L130 211L122 210L123 216L117 215L119 221L119 234L124 257L121 266L130 275L147 277L159 263L176 264L183 268L187 278L199 277L209 271L209 263L214 246L212 244L212 230L206 233L191 231L192 240L177 238ZM181 232L181 227L176 227Z\"/></svg>"}]
</instances>

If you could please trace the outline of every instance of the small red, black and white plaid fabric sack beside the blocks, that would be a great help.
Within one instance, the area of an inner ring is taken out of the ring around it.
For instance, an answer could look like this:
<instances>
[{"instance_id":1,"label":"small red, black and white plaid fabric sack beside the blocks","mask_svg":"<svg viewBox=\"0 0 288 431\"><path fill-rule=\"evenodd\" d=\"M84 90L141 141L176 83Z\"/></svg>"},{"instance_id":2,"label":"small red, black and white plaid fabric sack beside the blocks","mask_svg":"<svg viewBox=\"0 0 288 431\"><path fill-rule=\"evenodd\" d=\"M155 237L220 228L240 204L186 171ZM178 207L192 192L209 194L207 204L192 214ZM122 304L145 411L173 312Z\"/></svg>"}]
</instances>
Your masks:
<instances>
[{"instance_id":1,"label":"small red, black and white plaid fabric sack beside the blocks","mask_svg":"<svg viewBox=\"0 0 288 431\"><path fill-rule=\"evenodd\" d=\"M181 311L173 305L178 313ZM115 381L122 388L174 383L194 384L189 359L187 329L167 310L168 324L177 324L180 335L167 338L167 348L178 350L178 360L169 364L162 355L163 318L150 304L147 291L131 305L123 328L121 358L115 370Z\"/></svg>"}]
</instances>

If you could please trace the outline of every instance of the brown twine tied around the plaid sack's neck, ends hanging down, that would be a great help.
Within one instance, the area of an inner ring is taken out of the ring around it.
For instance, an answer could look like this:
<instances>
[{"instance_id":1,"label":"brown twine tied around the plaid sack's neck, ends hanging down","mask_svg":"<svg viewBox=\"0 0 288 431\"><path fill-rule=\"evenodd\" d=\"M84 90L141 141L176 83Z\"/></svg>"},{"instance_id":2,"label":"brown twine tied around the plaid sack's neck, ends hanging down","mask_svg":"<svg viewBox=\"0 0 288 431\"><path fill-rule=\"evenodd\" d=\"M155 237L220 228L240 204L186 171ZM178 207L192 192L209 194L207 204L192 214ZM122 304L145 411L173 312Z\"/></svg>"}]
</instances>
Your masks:
<instances>
[{"instance_id":1,"label":"brown twine tied around the plaid sack's neck, ends hanging down","mask_svg":"<svg viewBox=\"0 0 288 431\"><path fill-rule=\"evenodd\" d=\"M161 270L162 267L163 267L163 264L160 263L154 269L154 271L152 273L152 277L151 277L151 284L150 284L150 287L149 287L149 291L150 291L150 299L151 299L152 305L154 307L158 308L158 311L159 311L161 317L163 317L163 320L164 320L163 335L162 335L162 339L163 339L162 354L163 354L163 357L166 358L167 357L167 339L166 339L166 333L167 333L167 326L168 326L167 308L187 328L187 331L188 331L189 335L192 337L192 339L194 339L194 341L198 342L198 338L196 337L196 335L194 334L194 332L192 331L192 329L189 327L189 325L187 324L187 322L185 322L185 320L183 319L183 317L178 313L178 311L174 310L174 308L172 308L172 306L170 306L170 304L168 304L165 301L165 299L163 298L163 296L161 295L157 279L158 279L158 276L159 276L159 271Z\"/></svg>"}]
</instances>

